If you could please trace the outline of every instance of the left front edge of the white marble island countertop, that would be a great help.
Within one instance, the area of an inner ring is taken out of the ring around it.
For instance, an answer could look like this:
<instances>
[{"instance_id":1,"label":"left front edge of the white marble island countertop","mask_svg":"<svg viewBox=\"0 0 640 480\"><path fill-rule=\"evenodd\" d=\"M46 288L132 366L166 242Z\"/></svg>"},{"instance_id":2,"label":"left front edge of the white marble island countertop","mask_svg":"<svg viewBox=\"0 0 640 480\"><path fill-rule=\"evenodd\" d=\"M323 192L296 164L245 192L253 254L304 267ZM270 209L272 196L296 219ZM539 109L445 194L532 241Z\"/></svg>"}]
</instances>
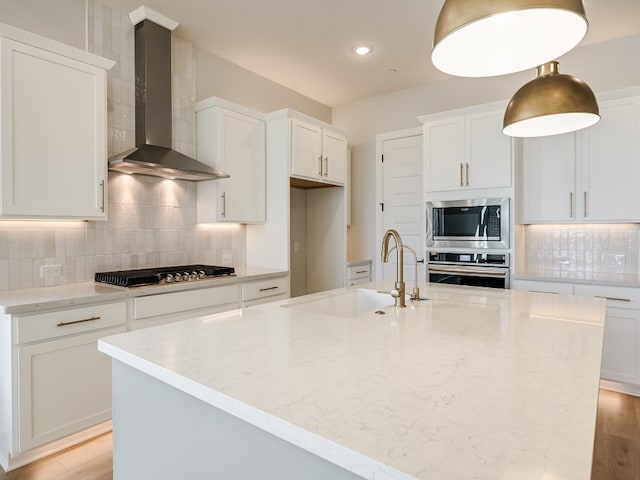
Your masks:
<instances>
[{"instance_id":1,"label":"left front edge of the white marble island countertop","mask_svg":"<svg viewBox=\"0 0 640 480\"><path fill-rule=\"evenodd\" d=\"M218 315L236 315L225 312ZM415 477L358 453L272 414L247 405L228 395L172 372L109 343L109 337L98 340L98 350L156 380L197 398L214 408L247 422L275 437L289 442L334 465L371 480L415 480Z\"/></svg>"}]
</instances>

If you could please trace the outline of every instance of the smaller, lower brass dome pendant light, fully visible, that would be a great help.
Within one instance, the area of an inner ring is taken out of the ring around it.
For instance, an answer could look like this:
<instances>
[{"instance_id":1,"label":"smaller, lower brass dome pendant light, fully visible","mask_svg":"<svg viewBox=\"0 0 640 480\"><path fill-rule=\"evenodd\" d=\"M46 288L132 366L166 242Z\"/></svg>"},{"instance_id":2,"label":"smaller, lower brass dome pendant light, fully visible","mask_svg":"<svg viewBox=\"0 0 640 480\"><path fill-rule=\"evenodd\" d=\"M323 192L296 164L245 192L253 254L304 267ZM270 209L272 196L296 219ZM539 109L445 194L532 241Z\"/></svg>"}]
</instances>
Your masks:
<instances>
[{"instance_id":1,"label":"smaller, lower brass dome pendant light, fully visible","mask_svg":"<svg viewBox=\"0 0 640 480\"><path fill-rule=\"evenodd\" d=\"M511 98L503 132L511 137L543 137L590 127L598 120L598 103L589 86L558 73L558 62L548 62Z\"/></svg>"}]
</instances>

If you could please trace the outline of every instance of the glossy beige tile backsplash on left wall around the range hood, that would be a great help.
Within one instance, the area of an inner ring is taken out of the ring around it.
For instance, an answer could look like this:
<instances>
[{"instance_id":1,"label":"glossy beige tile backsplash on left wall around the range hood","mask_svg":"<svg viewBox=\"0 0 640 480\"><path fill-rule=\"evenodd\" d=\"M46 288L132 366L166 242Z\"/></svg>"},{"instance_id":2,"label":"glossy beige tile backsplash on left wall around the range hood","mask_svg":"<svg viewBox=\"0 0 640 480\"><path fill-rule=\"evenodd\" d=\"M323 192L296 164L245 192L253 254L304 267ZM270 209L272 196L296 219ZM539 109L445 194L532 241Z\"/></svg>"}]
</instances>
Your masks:
<instances>
[{"instance_id":1,"label":"glossy beige tile backsplash on left wall around the range hood","mask_svg":"<svg viewBox=\"0 0 640 480\"><path fill-rule=\"evenodd\" d=\"M111 58L109 155L135 145L134 28L128 12L89 0L87 46ZM195 47L172 39L173 146L195 155ZM196 184L109 173L106 222L0 222L0 290L92 281L96 271L184 263L245 265L245 227L196 224ZM42 265L62 276L40 278Z\"/></svg>"}]
</instances>

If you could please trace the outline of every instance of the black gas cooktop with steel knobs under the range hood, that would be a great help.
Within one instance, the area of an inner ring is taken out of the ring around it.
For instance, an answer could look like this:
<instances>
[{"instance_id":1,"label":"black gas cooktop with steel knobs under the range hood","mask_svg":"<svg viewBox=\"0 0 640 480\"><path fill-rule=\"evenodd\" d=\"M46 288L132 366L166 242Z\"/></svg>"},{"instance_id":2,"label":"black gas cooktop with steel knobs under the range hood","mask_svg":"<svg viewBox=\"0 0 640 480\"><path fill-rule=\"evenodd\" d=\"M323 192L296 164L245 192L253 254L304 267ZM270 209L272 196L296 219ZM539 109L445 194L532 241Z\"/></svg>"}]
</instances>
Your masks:
<instances>
[{"instance_id":1,"label":"black gas cooktop with steel knobs under the range hood","mask_svg":"<svg viewBox=\"0 0 640 480\"><path fill-rule=\"evenodd\" d=\"M114 272L96 272L95 281L119 287L139 287L165 283L194 282L221 275L235 275L233 267L216 265L177 265Z\"/></svg>"}]
</instances>

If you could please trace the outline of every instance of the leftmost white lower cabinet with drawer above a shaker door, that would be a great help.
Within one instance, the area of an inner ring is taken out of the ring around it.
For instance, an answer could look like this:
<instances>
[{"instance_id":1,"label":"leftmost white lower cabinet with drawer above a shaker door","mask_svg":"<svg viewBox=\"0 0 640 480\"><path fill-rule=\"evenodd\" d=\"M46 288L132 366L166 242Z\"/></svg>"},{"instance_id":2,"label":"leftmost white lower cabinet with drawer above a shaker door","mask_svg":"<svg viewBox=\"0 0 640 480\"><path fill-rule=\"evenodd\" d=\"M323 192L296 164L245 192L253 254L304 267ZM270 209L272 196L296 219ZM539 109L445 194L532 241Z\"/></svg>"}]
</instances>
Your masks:
<instances>
[{"instance_id":1,"label":"leftmost white lower cabinet with drawer above a shaker door","mask_svg":"<svg viewBox=\"0 0 640 480\"><path fill-rule=\"evenodd\" d=\"M0 322L2 467L106 431L100 424L111 419L111 361L97 342L126 331L127 302L3 315ZM65 443L71 435L74 442Z\"/></svg>"}]
</instances>

